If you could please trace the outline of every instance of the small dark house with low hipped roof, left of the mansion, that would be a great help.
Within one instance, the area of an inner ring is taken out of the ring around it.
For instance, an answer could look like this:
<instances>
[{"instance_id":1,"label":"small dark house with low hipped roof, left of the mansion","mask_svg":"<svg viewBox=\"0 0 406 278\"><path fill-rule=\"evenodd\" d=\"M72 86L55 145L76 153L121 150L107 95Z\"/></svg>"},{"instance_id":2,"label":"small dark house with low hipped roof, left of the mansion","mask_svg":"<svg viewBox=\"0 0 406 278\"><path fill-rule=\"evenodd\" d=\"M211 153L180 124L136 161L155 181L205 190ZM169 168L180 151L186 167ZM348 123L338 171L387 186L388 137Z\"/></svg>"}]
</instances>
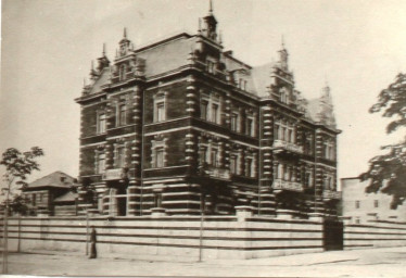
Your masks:
<instances>
[{"instance_id":1,"label":"small dark house with low hipped roof, left of the mansion","mask_svg":"<svg viewBox=\"0 0 406 278\"><path fill-rule=\"evenodd\" d=\"M23 189L29 215L76 215L77 193L73 189L76 179L63 172L54 172L39 178Z\"/></svg>"}]
</instances>

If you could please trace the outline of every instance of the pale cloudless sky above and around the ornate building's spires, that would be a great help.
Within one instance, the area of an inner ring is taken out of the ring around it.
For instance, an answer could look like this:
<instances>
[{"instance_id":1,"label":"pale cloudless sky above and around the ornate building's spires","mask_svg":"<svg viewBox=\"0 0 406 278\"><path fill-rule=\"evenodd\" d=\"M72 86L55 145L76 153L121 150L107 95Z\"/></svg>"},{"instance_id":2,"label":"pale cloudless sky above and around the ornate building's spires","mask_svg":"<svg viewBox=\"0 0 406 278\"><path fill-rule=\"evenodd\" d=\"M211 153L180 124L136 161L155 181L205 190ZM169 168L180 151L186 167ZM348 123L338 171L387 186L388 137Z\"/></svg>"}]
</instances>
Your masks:
<instances>
[{"instance_id":1,"label":"pale cloudless sky above and around the ornate building's spires","mask_svg":"<svg viewBox=\"0 0 406 278\"><path fill-rule=\"evenodd\" d=\"M369 114L380 90L406 72L404 0L214 0L225 50L250 65L277 58L281 37L296 89L329 84L339 136L339 178L358 176L385 135ZM41 147L41 172L78 175L79 97L91 60L114 59L124 27L135 47L195 34L208 0L2 0L0 152Z\"/></svg>"}]
</instances>

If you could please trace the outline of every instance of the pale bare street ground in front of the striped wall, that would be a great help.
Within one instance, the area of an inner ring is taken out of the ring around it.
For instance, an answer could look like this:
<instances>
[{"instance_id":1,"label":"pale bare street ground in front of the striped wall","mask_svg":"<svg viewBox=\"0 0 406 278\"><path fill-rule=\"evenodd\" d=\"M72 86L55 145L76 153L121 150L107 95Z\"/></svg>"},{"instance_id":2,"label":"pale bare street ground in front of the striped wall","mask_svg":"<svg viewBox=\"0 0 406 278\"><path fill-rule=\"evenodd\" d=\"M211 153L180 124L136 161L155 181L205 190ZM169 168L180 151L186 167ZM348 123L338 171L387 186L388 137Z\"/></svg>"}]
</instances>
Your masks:
<instances>
[{"instance_id":1,"label":"pale bare street ground in front of the striped wall","mask_svg":"<svg viewBox=\"0 0 406 278\"><path fill-rule=\"evenodd\" d=\"M406 247L211 262L88 260L73 253L12 253L11 275L406 277ZM7 277L7 276L3 276Z\"/></svg>"}]
</instances>

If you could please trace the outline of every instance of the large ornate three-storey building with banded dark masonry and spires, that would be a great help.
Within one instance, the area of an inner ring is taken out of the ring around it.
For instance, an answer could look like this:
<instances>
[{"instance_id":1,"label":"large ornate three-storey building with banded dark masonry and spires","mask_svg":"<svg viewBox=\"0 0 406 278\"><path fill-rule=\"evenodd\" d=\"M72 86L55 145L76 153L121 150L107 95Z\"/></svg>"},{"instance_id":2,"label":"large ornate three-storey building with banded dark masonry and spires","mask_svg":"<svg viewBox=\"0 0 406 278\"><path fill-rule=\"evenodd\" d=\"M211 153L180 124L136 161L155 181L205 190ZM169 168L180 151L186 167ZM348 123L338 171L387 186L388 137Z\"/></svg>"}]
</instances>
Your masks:
<instances>
[{"instance_id":1,"label":"large ornate three-storey building with banded dark masonry and spires","mask_svg":"<svg viewBox=\"0 0 406 278\"><path fill-rule=\"evenodd\" d=\"M253 67L224 51L212 9L200 25L143 48L125 31L114 61L103 51L91 68L76 99L83 205L107 215L237 205L335 215L330 88L306 100L283 45L278 62Z\"/></svg>"}]
</instances>

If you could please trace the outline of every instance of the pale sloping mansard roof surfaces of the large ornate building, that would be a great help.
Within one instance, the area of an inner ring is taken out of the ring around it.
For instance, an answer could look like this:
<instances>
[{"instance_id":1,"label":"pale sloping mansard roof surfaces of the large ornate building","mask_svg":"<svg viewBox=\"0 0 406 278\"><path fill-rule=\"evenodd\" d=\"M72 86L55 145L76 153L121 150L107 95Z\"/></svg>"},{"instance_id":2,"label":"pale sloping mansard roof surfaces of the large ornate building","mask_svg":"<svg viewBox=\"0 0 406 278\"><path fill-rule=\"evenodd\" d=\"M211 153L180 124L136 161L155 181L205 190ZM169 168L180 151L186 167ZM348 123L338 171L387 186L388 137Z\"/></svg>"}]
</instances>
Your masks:
<instances>
[{"instance_id":1,"label":"pale sloping mansard roof surfaces of the large ornate building","mask_svg":"<svg viewBox=\"0 0 406 278\"><path fill-rule=\"evenodd\" d=\"M187 65L190 62L190 53L194 51L198 40L199 36L196 35L180 33L140 47L134 50L134 53L138 58L145 60L144 74L147 78L151 78ZM225 64L229 73L233 73L237 78L242 77L246 81L245 91L259 98L269 97L271 71L274 66L279 65L278 63L251 66L234 58L231 51L223 52L220 62ZM99 73L98 78L90 85L89 94L102 91L102 86L110 81L111 72L111 67L104 67ZM327 102L331 102L330 96L328 96ZM323 110L323 104L326 104L326 96L317 99L303 99L305 118L335 128L333 113L332 111ZM327 105L332 106L332 103L327 103Z\"/></svg>"}]
</instances>

